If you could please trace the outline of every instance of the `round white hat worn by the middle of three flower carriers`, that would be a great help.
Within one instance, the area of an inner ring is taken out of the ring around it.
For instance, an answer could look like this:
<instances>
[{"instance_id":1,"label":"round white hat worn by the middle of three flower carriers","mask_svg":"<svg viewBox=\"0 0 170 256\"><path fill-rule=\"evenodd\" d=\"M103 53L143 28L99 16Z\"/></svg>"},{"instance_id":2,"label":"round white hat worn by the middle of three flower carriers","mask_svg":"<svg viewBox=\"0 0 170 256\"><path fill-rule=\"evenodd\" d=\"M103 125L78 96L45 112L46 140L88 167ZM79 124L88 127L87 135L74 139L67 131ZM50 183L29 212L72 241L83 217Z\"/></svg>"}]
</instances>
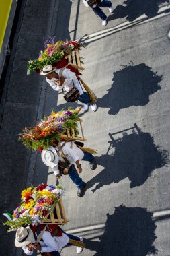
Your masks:
<instances>
[{"instance_id":1,"label":"round white hat worn by the middle of three flower carriers","mask_svg":"<svg viewBox=\"0 0 170 256\"><path fill-rule=\"evenodd\" d=\"M46 150L42 150L41 153L42 162L49 167L54 167L58 164L58 154L56 154L56 150L54 147L50 146Z\"/></svg>"}]
</instances>

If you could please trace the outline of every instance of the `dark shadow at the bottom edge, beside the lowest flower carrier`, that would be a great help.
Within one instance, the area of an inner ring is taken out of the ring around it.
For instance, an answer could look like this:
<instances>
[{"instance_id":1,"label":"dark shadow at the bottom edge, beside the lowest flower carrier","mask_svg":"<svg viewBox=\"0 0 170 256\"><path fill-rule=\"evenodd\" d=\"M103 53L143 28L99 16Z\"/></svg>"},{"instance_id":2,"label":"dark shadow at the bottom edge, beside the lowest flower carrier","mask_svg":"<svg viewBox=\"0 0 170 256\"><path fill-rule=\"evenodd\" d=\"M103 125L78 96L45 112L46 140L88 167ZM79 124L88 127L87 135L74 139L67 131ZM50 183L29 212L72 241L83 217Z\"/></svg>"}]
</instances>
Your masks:
<instances>
[{"instance_id":1,"label":"dark shadow at the bottom edge, beside the lowest flower carrier","mask_svg":"<svg viewBox=\"0 0 170 256\"><path fill-rule=\"evenodd\" d=\"M96 251L95 256L146 256L157 254L153 245L157 236L153 213L146 208L115 208L112 215L107 214L105 232L100 242L85 239L87 249Z\"/></svg>"}]
</instances>

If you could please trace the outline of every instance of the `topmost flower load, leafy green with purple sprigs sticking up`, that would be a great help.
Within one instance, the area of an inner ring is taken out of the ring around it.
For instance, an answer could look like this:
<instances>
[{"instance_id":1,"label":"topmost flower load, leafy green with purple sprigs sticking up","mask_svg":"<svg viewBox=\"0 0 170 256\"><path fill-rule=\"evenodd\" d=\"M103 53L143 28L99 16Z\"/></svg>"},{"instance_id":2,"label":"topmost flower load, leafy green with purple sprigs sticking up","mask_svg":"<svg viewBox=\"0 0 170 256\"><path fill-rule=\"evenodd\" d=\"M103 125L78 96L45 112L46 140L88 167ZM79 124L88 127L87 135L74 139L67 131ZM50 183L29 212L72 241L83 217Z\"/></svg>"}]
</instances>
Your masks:
<instances>
[{"instance_id":1,"label":"topmost flower load, leafy green with purple sprigs sticking up","mask_svg":"<svg viewBox=\"0 0 170 256\"><path fill-rule=\"evenodd\" d=\"M28 61L28 70L30 73L34 71L42 71L46 65L54 65L58 63L65 56L71 53L75 49L81 49L81 43L79 41L58 41L54 43L54 38L44 39L44 51L40 51L38 59L34 61Z\"/></svg>"}]
</instances>

